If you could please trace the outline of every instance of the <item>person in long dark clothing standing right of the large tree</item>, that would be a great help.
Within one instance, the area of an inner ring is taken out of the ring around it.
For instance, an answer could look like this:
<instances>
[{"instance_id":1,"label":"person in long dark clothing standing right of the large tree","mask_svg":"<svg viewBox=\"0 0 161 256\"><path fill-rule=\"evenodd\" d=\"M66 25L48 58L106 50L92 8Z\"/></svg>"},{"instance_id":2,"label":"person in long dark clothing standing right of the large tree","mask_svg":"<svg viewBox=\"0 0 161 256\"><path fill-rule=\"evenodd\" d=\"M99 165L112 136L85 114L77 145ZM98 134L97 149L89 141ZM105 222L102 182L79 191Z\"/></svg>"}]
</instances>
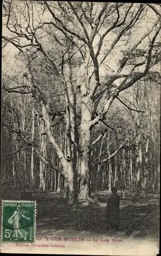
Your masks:
<instances>
[{"instance_id":1,"label":"person in long dark clothing standing right of the large tree","mask_svg":"<svg viewBox=\"0 0 161 256\"><path fill-rule=\"evenodd\" d=\"M110 225L112 230L118 230L120 224L120 197L117 195L116 187L112 189L112 195L106 207L105 223Z\"/></svg>"}]
</instances>

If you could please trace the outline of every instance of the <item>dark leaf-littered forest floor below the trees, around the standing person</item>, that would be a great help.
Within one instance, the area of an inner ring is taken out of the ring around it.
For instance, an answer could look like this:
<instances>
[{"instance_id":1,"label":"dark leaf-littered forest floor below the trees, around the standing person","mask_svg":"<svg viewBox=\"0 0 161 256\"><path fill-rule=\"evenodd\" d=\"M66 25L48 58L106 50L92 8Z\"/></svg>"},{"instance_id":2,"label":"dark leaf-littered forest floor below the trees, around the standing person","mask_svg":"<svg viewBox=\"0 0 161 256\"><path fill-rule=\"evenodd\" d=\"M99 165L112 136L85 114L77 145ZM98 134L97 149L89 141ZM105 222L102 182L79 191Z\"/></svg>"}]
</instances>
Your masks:
<instances>
[{"instance_id":1,"label":"dark leaf-littered forest floor below the trees, around the standing person","mask_svg":"<svg viewBox=\"0 0 161 256\"><path fill-rule=\"evenodd\" d=\"M113 236L104 225L107 191L92 194L91 202L69 205L60 194L35 195L37 200L37 236L97 237ZM120 196L120 229L124 238L159 240L159 195L146 198L127 194Z\"/></svg>"}]
</instances>

